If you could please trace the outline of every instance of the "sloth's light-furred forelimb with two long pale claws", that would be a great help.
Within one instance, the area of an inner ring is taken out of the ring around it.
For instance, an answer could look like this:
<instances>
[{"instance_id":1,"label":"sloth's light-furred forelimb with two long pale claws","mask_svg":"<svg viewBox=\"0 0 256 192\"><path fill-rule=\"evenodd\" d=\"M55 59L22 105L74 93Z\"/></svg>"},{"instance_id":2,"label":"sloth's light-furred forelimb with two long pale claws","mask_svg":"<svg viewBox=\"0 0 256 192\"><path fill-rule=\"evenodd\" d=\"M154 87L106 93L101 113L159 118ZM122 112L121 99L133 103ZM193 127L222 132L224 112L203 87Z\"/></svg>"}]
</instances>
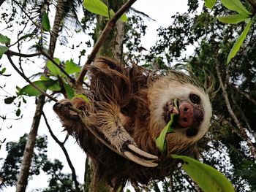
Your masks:
<instances>
[{"instance_id":1,"label":"sloth's light-furred forelimb with two long pale claws","mask_svg":"<svg viewBox=\"0 0 256 192\"><path fill-rule=\"evenodd\" d=\"M121 124L118 116L120 110L114 104L102 104L102 109L96 113L99 131L104 134L108 142L115 147L123 156L142 166L154 167L156 155L151 155L137 147L134 139L128 134Z\"/></svg>"}]
</instances>

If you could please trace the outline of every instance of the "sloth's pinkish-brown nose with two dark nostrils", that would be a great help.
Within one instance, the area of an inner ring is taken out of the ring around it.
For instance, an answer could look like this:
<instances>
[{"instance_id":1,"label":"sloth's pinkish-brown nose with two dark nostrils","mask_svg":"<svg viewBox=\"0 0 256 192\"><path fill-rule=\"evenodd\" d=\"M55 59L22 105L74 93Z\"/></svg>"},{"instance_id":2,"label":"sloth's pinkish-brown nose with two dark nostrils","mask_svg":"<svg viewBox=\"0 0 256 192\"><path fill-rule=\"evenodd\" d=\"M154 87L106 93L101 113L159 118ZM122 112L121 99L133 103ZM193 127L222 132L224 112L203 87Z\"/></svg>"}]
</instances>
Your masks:
<instances>
[{"instance_id":1,"label":"sloth's pinkish-brown nose with two dark nostrils","mask_svg":"<svg viewBox=\"0 0 256 192\"><path fill-rule=\"evenodd\" d=\"M179 105L178 125L181 127L192 126L193 123L193 107L192 104L184 101Z\"/></svg>"}]
</instances>

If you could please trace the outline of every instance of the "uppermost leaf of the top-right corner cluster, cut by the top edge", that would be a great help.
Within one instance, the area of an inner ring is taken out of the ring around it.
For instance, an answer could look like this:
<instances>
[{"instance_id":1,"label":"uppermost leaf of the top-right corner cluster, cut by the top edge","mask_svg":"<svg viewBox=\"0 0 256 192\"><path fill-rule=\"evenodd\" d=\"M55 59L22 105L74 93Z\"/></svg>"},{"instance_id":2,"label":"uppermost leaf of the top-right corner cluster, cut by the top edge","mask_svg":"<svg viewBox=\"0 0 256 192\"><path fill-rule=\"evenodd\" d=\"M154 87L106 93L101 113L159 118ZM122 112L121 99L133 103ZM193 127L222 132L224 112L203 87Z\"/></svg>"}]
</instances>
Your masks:
<instances>
[{"instance_id":1,"label":"uppermost leaf of the top-right corner cluster, cut by the top edge","mask_svg":"<svg viewBox=\"0 0 256 192\"><path fill-rule=\"evenodd\" d=\"M244 5L241 3L240 0L221 0L222 4L227 8L232 11L236 11L241 14L245 15L252 15L251 12L249 12Z\"/></svg>"}]
</instances>

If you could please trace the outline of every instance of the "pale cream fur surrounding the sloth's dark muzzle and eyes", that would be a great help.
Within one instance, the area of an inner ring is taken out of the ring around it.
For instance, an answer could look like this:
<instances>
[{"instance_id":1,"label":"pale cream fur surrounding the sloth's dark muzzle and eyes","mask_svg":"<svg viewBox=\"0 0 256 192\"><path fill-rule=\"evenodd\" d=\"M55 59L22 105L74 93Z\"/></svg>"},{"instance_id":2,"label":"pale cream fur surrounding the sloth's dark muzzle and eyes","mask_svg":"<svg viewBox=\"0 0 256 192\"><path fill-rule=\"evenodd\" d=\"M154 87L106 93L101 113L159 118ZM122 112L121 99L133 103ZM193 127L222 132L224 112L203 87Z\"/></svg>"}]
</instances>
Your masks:
<instances>
[{"instance_id":1,"label":"pale cream fur surrounding the sloth's dark muzzle and eyes","mask_svg":"<svg viewBox=\"0 0 256 192\"><path fill-rule=\"evenodd\" d=\"M173 137L178 137L179 140L191 140L191 142L196 142L198 139L202 138L203 135L206 134L206 131L208 131L211 120L211 103L208 95L204 93L202 88L197 88L195 85L190 83L181 83L174 80L173 77L167 76L160 78L153 83L148 91L148 99L150 101L149 110L151 111L151 122L154 124L154 128L161 131L162 128L166 126L162 113L163 107L167 101L172 101L176 98L188 101L190 93L195 93L197 96L200 96L200 105L203 107L204 111L203 122L201 123L195 137L188 138L183 130L175 131L176 133L174 133Z\"/></svg>"}]
</instances>

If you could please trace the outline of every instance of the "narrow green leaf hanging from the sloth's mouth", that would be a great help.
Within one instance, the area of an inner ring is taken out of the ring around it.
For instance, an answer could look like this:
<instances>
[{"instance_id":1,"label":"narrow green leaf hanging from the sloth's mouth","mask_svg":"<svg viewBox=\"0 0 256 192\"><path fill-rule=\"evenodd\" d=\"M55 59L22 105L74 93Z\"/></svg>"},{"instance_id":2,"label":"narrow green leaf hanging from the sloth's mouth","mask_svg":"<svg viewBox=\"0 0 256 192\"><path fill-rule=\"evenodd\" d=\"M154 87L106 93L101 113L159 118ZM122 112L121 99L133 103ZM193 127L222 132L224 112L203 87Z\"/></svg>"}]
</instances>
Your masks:
<instances>
[{"instance_id":1,"label":"narrow green leaf hanging from the sloth's mouth","mask_svg":"<svg viewBox=\"0 0 256 192\"><path fill-rule=\"evenodd\" d=\"M165 151L166 151L166 144L165 144L166 134L173 132L173 128L171 127L171 125L173 124L174 115L175 114L173 114L173 113L170 114L170 121L167 123L165 128L162 129L159 137L157 137L157 139L156 139L157 148L161 151L161 153L165 153Z\"/></svg>"}]
</instances>

